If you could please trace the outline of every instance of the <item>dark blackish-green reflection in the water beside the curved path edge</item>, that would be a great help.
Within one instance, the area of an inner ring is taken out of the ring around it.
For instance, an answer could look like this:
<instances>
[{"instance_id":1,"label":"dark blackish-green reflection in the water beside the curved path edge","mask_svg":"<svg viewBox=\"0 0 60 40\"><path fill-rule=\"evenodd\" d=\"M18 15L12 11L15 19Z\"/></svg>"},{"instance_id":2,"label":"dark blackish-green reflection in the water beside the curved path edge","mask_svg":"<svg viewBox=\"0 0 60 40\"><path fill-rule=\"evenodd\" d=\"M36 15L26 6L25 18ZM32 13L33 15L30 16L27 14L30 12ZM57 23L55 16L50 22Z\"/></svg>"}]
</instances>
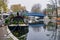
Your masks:
<instances>
[{"instance_id":1,"label":"dark blackish-green reflection in the water beside the curved path edge","mask_svg":"<svg viewBox=\"0 0 60 40\"><path fill-rule=\"evenodd\" d=\"M15 27L16 29L14 29ZM9 26L9 29L11 30L13 35L16 36L19 40L26 40L28 27L19 27L19 26L15 26L15 27Z\"/></svg>"}]
</instances>

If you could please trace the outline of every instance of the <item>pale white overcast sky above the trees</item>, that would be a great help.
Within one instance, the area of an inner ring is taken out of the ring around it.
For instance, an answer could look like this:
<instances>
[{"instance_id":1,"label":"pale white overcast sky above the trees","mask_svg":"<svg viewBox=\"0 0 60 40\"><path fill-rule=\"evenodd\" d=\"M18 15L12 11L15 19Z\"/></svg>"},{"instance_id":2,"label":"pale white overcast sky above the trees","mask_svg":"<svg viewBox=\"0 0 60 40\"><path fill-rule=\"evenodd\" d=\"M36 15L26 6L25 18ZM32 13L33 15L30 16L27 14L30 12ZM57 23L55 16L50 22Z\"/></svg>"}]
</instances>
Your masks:
<instances>
[{"instance_id":1,"label":"pale white overcast sky above the trees","mask_svg":"<svg viewBox=\"0 0 60 40\"><path fill-rule=\"evenodd\" d=\"M25 6L28 11L31 10L34 4L40 4L41 9L46 8L46 4L49 0L8 0L8 7L10 8L12 4L21 4Z\"/></svg>"}]
</instances>

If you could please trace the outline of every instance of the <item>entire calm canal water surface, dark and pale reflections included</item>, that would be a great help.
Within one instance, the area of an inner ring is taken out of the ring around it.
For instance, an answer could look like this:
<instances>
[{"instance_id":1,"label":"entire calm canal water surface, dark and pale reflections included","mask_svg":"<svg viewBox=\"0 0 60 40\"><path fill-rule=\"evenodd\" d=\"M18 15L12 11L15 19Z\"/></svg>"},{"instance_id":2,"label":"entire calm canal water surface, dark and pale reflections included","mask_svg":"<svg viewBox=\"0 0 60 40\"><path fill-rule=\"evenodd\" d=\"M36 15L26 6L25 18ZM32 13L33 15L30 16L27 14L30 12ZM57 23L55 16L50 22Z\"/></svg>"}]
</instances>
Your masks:
<instances>
[{"instance_id":1,"label":"entire calm canal water surface, dark and pale reflections included","mask_svg":"<svg viewBox=\"0 0 60 40\"><path fill-rule=\"evenodd\" d=\"M12 29L11 29L12 30ZM28 27L22 27L12 32L19 40L60 40L55 23L31 24Z\"/></svg>"}]
</instances>

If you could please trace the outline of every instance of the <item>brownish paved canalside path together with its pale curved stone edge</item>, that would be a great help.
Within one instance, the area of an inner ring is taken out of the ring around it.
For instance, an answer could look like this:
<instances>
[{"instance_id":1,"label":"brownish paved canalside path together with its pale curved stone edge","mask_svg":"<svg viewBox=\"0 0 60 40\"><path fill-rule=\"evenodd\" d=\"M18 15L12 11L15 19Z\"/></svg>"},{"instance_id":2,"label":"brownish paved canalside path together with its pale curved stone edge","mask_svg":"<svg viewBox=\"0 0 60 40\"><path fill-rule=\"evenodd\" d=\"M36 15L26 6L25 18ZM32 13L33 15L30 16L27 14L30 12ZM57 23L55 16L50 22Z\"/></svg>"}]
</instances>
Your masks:
<instances>
[{"instance_id":1,"label":"brownish paved canalside path together with its pale curved stone edge","mask_svg":"<svg viewBox=\"0 0 60 40\"><path fill-rule=\"evenodd\" d=\"M8 35L7 35L8 34ZM7 40L7 38L12 38L13 40L18 40L8 29L7 26L0 27L0 40Z\"/></svg>"}]
</instances>

